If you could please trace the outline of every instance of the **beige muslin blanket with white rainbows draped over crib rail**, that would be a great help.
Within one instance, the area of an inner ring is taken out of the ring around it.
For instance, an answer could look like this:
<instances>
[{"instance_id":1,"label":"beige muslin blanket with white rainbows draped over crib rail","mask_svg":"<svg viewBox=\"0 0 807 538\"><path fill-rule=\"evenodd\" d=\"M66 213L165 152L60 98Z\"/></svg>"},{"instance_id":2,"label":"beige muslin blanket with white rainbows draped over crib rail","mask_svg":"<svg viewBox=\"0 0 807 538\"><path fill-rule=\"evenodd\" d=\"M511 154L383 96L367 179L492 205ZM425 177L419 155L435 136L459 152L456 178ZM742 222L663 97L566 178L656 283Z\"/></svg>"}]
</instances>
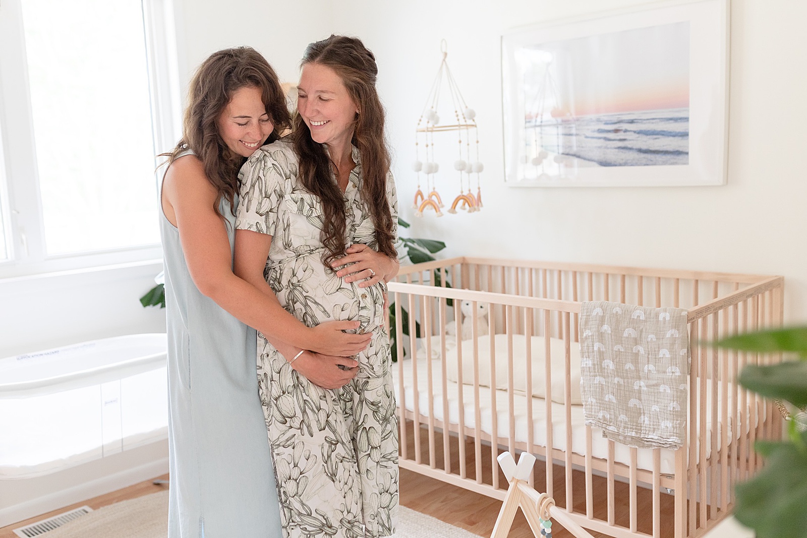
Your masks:
<instances>
[{"instance_id":1,"label":"beige muslin blanket with white rainbows draped over crib rail","mask_svg":"<svg viewBox=\"0 0 807 538\"><path fill-rule=\"evenodd\" d=\"M679 448L687 429L687 311L583 302L580 394L586 424L642 448Z\"/></svg>"}]
</instances>

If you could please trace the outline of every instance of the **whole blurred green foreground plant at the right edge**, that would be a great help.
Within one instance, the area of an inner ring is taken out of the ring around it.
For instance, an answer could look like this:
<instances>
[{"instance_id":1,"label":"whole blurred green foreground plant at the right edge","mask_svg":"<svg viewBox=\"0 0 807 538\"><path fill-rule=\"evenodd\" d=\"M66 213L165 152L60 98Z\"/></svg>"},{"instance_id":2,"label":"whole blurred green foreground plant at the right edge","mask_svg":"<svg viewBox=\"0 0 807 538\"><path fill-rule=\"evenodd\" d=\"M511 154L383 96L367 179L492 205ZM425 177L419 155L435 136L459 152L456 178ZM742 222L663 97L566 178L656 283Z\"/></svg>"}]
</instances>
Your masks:
<instances>
[{"instance_id":1,"label":"whole blurred green foreground plant at the right edge","mask_svg":"<svg viewBox=\"0 0 807 538\"><path fill-rule=\"evenodd\" d=\"M801 360L776 365L746 365L739 382L758 394L807 406L807 327L752 332L720 340L721 348L746 352L795 353ZM758 441L755 450L765 466L735 488L734 517L753 528L758 538L807 537L807 431L788 420L788 440Z\"/></svg>"}]
</instances>

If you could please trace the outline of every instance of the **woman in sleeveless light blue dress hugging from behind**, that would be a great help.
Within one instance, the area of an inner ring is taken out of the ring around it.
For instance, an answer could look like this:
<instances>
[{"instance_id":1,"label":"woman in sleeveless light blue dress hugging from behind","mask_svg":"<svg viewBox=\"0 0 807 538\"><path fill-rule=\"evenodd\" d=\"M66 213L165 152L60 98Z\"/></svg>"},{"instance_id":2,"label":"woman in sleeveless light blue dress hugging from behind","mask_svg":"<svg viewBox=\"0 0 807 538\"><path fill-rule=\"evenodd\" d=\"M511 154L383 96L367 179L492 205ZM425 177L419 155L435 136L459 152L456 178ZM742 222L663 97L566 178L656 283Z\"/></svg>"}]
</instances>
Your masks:
<instances>
[{"instance_id":1,"label":"woman in sleeveless light blue dress hugging from behind","mask_svg":"<svg viewBox=\"0 0 807 538\"><path fill-rule=\"evenodd\" d=\"M263 56L252 48L230 48L197 70L182 140L166 154L161 237L169 343L169 538L280 533L250 327L291 357L305 347L297 361L301 371L333 386L353 377L336 365L353 366L344 356L362 351L370 340L343 332L358 322L306 327L276 298L232 273L238 170L290 123L278 77Z\"/></svg>"}]
</instances>

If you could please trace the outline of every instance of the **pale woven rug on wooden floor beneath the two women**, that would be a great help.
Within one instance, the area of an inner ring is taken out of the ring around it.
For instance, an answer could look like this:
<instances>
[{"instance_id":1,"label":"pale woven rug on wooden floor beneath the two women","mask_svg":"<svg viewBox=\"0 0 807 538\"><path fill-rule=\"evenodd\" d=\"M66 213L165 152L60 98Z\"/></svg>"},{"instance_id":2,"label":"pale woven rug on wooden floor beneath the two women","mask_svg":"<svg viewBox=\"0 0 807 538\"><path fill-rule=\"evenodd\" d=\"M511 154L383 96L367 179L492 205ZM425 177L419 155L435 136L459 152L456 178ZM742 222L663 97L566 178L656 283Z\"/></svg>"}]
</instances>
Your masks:
<instances>
[{"instance_id":1,"label":"pale woven rug on wooden floor beneath the two women","mask_svg":"<svg viewBox=\"0 0 807 538\"><path fill-rule=\"evenodd\" d=\"M165 538L168 528L168 491L132 498L82 515L44 538ZM407 507L399 507L395 538L479 538Z\"/></svg>"}]
</instances>

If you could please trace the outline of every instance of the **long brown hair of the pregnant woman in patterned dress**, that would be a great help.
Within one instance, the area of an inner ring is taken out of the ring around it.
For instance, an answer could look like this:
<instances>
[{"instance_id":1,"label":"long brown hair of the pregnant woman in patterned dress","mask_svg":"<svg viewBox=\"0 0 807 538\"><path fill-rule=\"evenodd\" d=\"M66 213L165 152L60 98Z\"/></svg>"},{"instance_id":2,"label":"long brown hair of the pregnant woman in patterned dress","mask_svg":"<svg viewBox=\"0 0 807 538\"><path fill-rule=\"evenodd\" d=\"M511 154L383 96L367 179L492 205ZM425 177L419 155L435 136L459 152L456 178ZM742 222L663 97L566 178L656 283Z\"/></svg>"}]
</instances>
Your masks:
<instances>
[{"instance_id":1,"label":"long brown hair of the pregnant woman in patterned dress","mask_svg":"<svg viewBox=\"0 0 807 538\"><path fill-rule=\"evenodd\" d=\"M359 193L375 227L378 252L396 257L393 222L387 200L387 174L391 159L384 137L384 107L375 90L378 66L375 56L361 40L345 35L331 35L327 40L309 44L301 65L320 64L333 69L341 78L350 98L359 106L353 130L353 145L362 156L362 186ZM325 247L322 261L326 267L345 254L345 199L332 179L331 160L323 144L311 137L311 131L295 113L291 135L299 156L299 180L303 187L320 197L324 227L320 240Z\"/></svg>"}]
</instances>

